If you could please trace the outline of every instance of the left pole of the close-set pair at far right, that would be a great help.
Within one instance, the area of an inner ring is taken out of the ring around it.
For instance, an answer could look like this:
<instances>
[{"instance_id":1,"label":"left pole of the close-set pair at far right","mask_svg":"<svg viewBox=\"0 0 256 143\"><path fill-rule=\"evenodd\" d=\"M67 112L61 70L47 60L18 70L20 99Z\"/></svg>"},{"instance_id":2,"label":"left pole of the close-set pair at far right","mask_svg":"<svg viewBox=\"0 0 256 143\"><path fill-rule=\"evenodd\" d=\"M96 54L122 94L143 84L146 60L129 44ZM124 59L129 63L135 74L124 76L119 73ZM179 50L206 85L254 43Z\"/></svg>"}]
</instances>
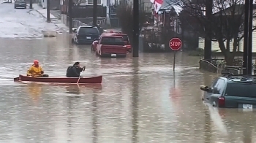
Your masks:
<instances>
[{"instance_id":1,"label":"left pole of the close-set pair at far right","mask_svg":"<svg viewBox=\"0 0 256 143\"><path fill-rule=\"evenodd\" d=\"M243 74L248 74L248 32L249 32L249 0L244 4L244 64Z\"/></svg>"}]
</instances>

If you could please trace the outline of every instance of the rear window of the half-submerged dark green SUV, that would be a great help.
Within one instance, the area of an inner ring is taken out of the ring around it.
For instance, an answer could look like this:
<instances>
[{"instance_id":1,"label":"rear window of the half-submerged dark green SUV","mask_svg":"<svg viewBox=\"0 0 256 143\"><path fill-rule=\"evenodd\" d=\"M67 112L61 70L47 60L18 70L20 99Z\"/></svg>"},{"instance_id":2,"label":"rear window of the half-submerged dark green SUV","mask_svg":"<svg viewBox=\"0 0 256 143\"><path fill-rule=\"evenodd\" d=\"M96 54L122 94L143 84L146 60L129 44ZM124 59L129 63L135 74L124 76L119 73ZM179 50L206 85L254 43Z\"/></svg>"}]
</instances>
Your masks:
<instances>
[{"instance_id":1,"label":"rear window of the half-submerged dark green SUV","mask_svg":"<svg viewBox=\"0 0 256 143\"><path fill-rule=\"evenodd\" d=\"M256 84L249 82L227 83L225 96L256 98Z\"/></svg>"}]
</instances>

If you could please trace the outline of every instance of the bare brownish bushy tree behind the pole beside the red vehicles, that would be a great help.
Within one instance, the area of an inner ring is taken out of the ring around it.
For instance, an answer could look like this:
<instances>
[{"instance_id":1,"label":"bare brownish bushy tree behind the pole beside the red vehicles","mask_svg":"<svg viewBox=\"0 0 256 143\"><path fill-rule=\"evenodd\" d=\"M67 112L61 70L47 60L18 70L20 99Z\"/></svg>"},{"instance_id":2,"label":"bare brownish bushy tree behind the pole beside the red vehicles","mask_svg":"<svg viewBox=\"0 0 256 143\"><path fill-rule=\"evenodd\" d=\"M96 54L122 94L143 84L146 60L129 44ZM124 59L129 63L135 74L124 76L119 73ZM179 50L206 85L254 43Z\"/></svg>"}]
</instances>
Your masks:
<instances>
[{"instance_id":1,"label":"bare brownish bushy tree behind the pole beside the red vehicles","mask_svg":"<svg viewBox=\"0 0 256 143\"><path fill-rule=\"evenodd\" d=\"M121 31L124 34L127 34L129 37L129 41L131 42L131 45L133 45L133 8L130 4L119 4L116 10L117 17L119 20L119 23L121 25ZM140 10L140 30L143 28L144 24L147 21L146 12L143 10Z\"/></svg>"}]
</instances>

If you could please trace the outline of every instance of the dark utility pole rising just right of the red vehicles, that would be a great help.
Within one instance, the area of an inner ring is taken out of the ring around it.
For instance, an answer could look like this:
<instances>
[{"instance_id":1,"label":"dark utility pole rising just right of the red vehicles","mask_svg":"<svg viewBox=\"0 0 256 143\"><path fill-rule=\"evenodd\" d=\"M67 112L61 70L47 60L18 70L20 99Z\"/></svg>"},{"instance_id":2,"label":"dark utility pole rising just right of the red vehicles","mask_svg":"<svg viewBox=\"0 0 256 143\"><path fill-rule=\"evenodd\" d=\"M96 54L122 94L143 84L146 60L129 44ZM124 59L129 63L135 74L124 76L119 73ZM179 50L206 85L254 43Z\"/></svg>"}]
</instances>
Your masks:
<instances>
[{"instance_id":1,"label":"dark utility pole rising just right of the red vehicles","mask_svg":"<svg viewBox=\"0 0 256 143\"><path fill-rule=\"evenodd\" d=\"M138 0L133 0L133 45L132 57L139 57L140 38L140 4Z\"/></svg>"}]
</instances>

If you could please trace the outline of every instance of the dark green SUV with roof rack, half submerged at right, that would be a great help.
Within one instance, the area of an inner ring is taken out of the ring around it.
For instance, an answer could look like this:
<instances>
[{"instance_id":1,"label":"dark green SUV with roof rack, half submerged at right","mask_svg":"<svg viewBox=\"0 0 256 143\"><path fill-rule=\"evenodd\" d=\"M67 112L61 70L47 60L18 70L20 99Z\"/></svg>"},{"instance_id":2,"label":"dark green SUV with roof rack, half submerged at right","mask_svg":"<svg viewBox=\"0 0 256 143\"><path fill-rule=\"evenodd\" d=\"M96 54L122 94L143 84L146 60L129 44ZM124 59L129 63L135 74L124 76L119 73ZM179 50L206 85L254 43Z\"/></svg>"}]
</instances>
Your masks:
<instances>
[{"instance_id":1,"label":"dark green SUV with roof rack, half submerged at right","mask_svg":"<svg viewBox=\"0 0 256 143\"><path fill-rule=\"evenodd\" d=\"M214 107L256 108L256 76L227 75L200 89L205 91L203 101Z\"/></svg>"}]
</instances>

